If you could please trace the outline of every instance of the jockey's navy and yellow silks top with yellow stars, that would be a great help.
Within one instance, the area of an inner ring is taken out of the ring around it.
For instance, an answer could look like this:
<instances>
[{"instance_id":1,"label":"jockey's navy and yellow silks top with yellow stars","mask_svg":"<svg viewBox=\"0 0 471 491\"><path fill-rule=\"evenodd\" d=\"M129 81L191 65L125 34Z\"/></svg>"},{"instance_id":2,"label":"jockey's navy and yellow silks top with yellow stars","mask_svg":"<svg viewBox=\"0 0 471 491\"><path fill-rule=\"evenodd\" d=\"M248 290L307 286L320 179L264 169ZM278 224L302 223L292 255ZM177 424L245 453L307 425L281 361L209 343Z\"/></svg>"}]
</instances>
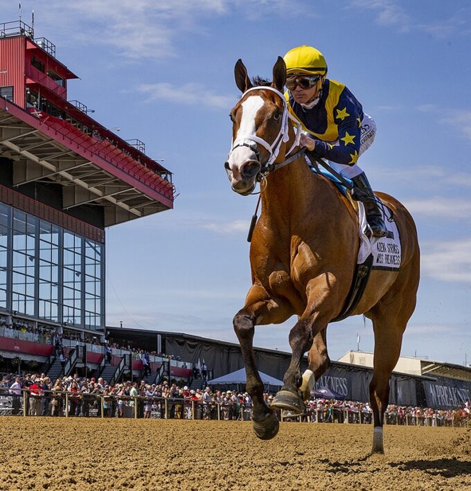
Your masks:
<instances>
[{"instance_id":1,"label":"jockey's navy and yellow silks top with yellow stars","mask_svg":"<svg viewBox=\"0 0 471 491\"><path fill-rule=\"evenodd\" d=\"M311 109L296 102L290 91L285 92L285 98L290 113L316 139L314 152L319 157L350 166L357 163L364 114L344 84L326 79L319 102Z\"/></svg>"}]
</instances>

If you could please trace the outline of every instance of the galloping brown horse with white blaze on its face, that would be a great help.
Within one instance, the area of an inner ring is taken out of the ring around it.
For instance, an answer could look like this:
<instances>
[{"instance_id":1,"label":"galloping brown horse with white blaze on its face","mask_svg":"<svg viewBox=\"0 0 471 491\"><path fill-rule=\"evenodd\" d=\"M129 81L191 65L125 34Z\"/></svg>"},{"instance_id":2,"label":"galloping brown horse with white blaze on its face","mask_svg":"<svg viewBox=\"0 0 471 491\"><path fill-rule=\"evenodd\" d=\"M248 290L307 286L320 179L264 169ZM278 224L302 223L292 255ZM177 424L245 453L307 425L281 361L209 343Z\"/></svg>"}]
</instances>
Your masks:
<instances>
[{"instance_id":1,"label":"galloping brown horse with white blaze on its face","mask_svg":"<svg viewBox=\"0 0 471 491\"><path fill-rule=\"evenodd\" d=\"M242 97L231 111L233 145L224 164L237 193L247 195L261 181L262 212L250 249L252 286L233 325L254 404L254 431L262 439L273 438L278 432L273 409L303 412L303 401L308 399L315 378L328 368L327 325L346 301L359 250L359 224L353 206L332 182L314 175L304 157L294 153L299 150L299 140L294 125L289 124L291 116L282 93L285 73L285 63L278 57L273 82L252 87L238 60L235 75ZM285 165L290 156L294 161ZM416 226L406 208L389 195L377 195L393 211L402 260L398 271L371 271L352 315L364 314L373 321L372 451L384 452L382 425L389 377L416 306L420 251ZM267 407L254 357L254 326L282 323L293 314L298 321L289 338L292 359L283 388ZM301 375L305 352L309 368Z\"/></svg>"}]
</instances>

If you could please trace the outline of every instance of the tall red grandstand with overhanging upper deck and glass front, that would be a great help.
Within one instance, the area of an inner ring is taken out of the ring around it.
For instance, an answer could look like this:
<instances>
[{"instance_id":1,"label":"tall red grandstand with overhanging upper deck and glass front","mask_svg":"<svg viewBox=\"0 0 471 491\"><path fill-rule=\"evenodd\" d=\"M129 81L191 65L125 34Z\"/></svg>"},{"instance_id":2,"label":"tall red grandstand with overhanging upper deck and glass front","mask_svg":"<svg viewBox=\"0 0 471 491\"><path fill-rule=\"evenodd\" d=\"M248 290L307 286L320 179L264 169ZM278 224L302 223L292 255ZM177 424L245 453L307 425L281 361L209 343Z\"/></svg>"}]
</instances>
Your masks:
<instances>
[{"instance_id":1,"label":"tall red grandstand with overhanging upper deck and glass front","mask_svg":"<svg viewBox=\"0 0 471 491\"><path fill-rule=\"evenodd\" d=\"M60 373L59 351L100 370L105 227L171 209L172 173L70 100L78 75L31 26L0 24L0 60L0 370Z\"/></svg>"}]
</instances>

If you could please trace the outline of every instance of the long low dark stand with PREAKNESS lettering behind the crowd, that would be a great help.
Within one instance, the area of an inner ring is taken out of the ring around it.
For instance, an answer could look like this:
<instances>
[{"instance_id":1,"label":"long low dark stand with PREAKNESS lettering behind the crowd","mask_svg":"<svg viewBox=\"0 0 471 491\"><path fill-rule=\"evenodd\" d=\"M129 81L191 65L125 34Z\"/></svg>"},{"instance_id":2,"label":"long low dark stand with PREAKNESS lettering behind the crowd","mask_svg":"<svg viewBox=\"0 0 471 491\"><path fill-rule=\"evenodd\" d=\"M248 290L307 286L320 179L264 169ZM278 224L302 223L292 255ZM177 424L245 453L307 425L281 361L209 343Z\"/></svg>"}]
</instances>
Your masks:
<instances>
[{"instance_id":1,"label":"long low dark stand with PREAKNESS lettering behind the crowd","mask_svg":"<svg viewBox=\"0 0 471 491\"><path fill-rule=\"evenodd\" d=\"M143 339L149 349L171 353L174 357L185 360L187 366L197 366L204 360L214 378L244 366L240 346L236 343L157 330L107 327L106 331L110 341L123 342L129 339L131 343L137 343L139 339ZM254 353L260 371L283 380L290 364L291 353L266 348L254 348ZM365 355L364 352L358 353L360 356ZM427 363L430 365L432 362L427 360ZM301 370L307 368L307 365L305 357ZM459 366L455 366L454 370L458 371L459 368L462 373L470 372L469 368ZM410 407L454 409L463 406L467 400L471 401L471 382L453 377L454 371L445 372L447 375L442 373L429 372L426 367L424 373L404 373L396 367L391 376L389 402ZM368 385L372 376L372 365L355 363L355 358L350 360L342 357L339 361L331 361L330 368L317 381L316 386L326 386L347 400L367 402Z\"/></svg>"}]
</instances>

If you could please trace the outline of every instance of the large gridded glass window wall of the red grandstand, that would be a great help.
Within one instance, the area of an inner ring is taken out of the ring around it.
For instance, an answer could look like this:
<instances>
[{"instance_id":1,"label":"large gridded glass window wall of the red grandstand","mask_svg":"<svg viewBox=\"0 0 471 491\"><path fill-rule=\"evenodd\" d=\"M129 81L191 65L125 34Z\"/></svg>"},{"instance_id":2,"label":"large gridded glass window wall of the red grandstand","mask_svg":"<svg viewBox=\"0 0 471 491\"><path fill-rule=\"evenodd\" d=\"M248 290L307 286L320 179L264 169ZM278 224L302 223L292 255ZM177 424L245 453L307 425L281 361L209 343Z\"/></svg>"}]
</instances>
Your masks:
<instances>
[{"instance_id":1,"label":"large gridded glass window wall of the red grandstand","mask_svg":"<svg viewBox=\"0 0 471 491\"><path fill-rule=\"evenodd\" d=\"M0 203L0 309L101 326L104 252L101 244Z\"/></svg>"}]
</instances>

